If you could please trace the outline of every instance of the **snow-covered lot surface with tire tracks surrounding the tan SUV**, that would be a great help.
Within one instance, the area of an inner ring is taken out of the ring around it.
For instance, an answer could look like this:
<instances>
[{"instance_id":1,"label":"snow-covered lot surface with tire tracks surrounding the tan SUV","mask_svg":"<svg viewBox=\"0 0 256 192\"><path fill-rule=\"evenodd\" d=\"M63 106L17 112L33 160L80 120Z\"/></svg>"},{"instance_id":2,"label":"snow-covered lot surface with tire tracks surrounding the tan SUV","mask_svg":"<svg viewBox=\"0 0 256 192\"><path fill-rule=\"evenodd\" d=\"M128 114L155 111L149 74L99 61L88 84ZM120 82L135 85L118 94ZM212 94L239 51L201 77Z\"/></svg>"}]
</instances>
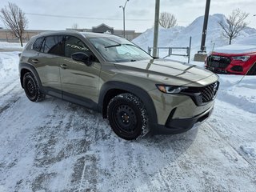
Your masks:
<instances>
[{"instance_id":1,"label":"snow-covered lot surface with tire tracks surrounding the tan SUV","mask_svg":"<svg viewBox=\"0 0 256 192\"><path fill-rule=\"evenodd\" d=\"M220 75L214 113L193 130L128 142L92 110L30 102L18 52L0 52L0 191L253 192L256 76L241 78Z\"/></svg>"}]
</instances>

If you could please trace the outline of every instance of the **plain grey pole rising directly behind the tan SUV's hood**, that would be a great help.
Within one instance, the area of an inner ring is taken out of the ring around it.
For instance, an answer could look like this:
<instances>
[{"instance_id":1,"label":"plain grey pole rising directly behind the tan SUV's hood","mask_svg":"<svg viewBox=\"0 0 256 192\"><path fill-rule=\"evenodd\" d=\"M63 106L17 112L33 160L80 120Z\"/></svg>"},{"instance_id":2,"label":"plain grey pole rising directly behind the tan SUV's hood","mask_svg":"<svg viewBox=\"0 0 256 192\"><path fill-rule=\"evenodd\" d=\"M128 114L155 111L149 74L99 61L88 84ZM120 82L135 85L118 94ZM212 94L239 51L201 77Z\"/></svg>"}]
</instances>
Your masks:
<instances>
[{"instance_id":1,"label":"plain grey pole rising directly behind the tan SUV's hood","mask_svg":"<svg viewBox=\"0 0 256 192\"><path fill-rule=\"evenodd\" d=\"M157 58L160 0L155 0L153 57Z\"/></svg>"}]
</instances>

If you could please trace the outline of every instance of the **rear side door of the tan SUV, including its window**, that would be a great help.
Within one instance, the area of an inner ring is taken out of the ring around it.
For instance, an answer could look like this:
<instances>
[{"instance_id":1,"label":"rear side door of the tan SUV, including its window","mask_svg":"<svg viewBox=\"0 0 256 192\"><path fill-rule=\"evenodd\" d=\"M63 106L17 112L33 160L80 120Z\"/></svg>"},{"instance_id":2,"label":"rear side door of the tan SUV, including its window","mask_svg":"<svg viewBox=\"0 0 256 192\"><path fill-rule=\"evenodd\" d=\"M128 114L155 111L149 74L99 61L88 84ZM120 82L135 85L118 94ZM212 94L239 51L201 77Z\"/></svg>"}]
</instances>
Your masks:
<instances>
[{"instance_id":1,"label":"rear side door of the tan SUV, including its window","mask_svg":"<svg viewBox=\"0 0 256 192\"><path fill-rule=\"evenodd\" d=\"M52 35L44 38L40 53L35 62L40 63L37 68L42 86L54 90L56 96L62 97L62 84L60 80L60 56L64 55L64 36Z\"/></svg>"}]
</instances>

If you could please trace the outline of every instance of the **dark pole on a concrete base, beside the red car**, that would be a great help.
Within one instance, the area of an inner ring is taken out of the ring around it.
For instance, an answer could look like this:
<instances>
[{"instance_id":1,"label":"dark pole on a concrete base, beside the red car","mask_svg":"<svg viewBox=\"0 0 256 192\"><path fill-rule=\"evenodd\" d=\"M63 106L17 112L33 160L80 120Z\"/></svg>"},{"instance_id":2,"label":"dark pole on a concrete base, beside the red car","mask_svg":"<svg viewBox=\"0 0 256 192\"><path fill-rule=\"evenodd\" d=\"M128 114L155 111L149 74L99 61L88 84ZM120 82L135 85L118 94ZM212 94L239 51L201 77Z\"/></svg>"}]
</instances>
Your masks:
<instances>
[{"instance_id":1,"label":"dark pole on a concrete base, beside the red car","mask_svg":"<svg viewBox=\"0 0 256 192\"><path fill-rule=\"evenodd\" d=\"M200 48L200 50L198 50L198 54L194 55L194 61L197 61L197 62L203 62L203 61L205 61L205 59L207 57L207 54L206 54L206 34L207 34L209 10L210 10L210 0L206 0L205 17L203 19L203 27L202 27L201 48Z\"/></svg>"}]
</instances>

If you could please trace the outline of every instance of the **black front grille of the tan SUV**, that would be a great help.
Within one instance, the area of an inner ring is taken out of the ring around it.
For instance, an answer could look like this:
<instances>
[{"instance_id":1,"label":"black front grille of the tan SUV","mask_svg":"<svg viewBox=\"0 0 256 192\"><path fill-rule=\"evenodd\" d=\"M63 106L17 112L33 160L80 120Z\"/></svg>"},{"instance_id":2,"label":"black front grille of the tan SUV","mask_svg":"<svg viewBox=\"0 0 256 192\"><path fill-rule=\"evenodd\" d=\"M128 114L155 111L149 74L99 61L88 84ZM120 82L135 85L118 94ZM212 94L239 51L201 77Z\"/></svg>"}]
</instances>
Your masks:
<instances>
[{"instance_id":1,"label":"black front grille of the tan SUV","mask_svg":"<svg viewBox=\"0 0 256 192\"><path fill-rule=\"evenodd\" d=\"M182 90L182 94L190 95L196 105L202 106L214 99L217 94L219 82L204 87L189 87Z\"/></svg>"}]
</instances>

